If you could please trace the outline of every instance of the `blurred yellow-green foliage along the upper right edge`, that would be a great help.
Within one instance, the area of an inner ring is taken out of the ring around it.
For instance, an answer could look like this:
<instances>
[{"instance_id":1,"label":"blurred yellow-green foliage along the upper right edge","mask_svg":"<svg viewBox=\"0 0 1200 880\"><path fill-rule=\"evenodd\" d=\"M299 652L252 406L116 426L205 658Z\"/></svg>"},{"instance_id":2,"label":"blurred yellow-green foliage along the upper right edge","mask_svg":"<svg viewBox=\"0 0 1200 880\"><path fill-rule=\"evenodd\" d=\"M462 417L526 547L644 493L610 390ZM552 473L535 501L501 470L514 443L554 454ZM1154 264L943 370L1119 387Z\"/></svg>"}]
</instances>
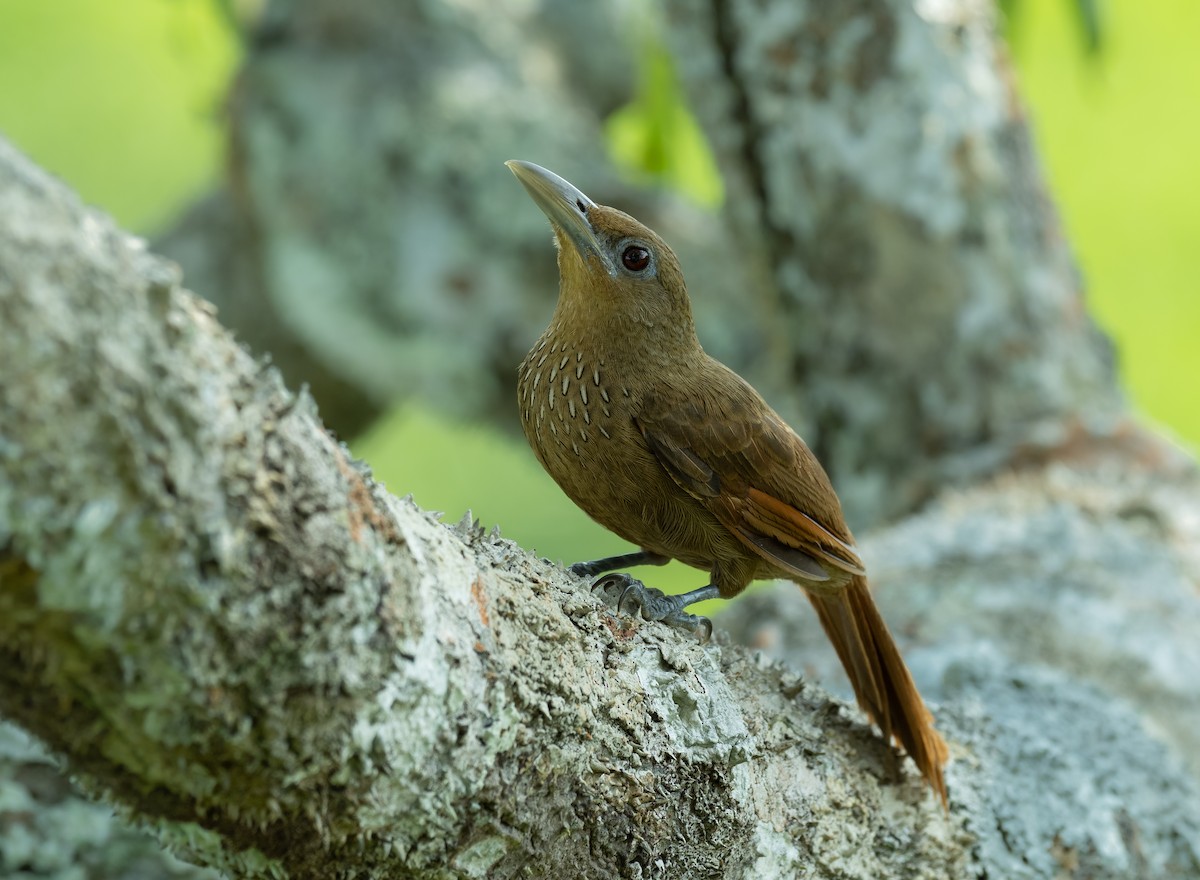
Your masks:
<instances>
[{"instance_id":1,"label":"blurred yellow-green foliage along the upper right edge","mask_svg":"<svg viewBox=\"0 0 1200 880\"><path fill-rule=\"evenodd\" d=\"M1200 5L1116 6L1104 49L1070 52L1061 2L1014 23L1020 89L1090 307L1138 408L1200 443Z\"/></svg>"}]
</instances>

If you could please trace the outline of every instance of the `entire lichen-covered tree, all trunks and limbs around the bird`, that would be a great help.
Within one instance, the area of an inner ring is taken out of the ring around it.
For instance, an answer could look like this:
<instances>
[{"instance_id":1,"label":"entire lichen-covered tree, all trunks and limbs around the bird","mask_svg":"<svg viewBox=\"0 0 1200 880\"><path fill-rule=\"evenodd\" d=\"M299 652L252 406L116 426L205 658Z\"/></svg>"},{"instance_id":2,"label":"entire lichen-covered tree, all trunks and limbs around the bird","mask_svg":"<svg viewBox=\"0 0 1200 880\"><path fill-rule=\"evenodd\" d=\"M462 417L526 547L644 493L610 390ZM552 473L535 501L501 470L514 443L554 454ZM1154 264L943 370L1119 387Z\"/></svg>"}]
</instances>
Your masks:
<instances>
[{"instance_id":1,"label":"entire lichen-covered tree, all trunks and limbs around the bird","mask_svg":"<svg viewBox=\"0 0 1200 880\"><path fill-rule=\"evenodd\" d=\"M227 186L162 246L353 431L404 394L506 418L556 281L504 158L678 243L709 348L896 520L864 552L950 815L788 666L386 496L7 150L0 711L232 876L1200 876L1200 485L1121 406L990 6L668 4L721 218L602 157L644 14L275 2ZM730 630L830 669L796 598Z\"/></svg>"}]
</instances>

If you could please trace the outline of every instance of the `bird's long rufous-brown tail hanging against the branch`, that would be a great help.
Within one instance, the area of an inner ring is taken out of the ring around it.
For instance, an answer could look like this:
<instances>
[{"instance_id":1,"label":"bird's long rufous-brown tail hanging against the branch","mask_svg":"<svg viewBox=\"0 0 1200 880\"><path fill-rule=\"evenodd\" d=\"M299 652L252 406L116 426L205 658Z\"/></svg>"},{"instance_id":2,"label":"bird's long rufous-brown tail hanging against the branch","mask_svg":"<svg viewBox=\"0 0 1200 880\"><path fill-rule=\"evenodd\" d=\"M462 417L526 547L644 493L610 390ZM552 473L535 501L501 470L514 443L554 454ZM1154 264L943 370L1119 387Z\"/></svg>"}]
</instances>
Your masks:
<instances>
[{"instance_id":1,"label":"bird's long rufous-brown tail hanging against the branch","mask_svg":"<svg viewBox=\"0 0 1200 880\"><path fill-rule=\"evenodd\" d=\"M934 716L875 606L866 579L856 576L838 593L805 593L850 676L858 705L886 738L895 737L904 746L944 806L942 765L949 756L946 741L934 729Z\"/></svg>"}]
</instances>

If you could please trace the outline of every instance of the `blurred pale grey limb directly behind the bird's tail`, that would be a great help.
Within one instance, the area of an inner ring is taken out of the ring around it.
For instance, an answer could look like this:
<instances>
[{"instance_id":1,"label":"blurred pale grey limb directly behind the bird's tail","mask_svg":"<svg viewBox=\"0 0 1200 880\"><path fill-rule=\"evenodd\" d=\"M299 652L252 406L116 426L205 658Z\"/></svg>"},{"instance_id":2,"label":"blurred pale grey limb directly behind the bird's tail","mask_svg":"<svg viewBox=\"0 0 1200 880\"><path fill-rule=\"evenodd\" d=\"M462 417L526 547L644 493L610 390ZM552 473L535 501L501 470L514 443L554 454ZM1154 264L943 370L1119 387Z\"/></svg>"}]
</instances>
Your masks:
<instances>
[{"instance_id":1,"label":"blurred pale grey limb directly behind the bird's tail","mask_svg":"<svg viewBox=\"0 0 1200 880\"><path fill-rule=\"evenodd\" d=\"M1177 450L1129 441L947 492L874 533L866 563L932 687L960 652L1056 669L1130 706L1200 778L1200 480ZM794 593L763 589L721 625L844 681Z\"/></svg>"}]
</instances>

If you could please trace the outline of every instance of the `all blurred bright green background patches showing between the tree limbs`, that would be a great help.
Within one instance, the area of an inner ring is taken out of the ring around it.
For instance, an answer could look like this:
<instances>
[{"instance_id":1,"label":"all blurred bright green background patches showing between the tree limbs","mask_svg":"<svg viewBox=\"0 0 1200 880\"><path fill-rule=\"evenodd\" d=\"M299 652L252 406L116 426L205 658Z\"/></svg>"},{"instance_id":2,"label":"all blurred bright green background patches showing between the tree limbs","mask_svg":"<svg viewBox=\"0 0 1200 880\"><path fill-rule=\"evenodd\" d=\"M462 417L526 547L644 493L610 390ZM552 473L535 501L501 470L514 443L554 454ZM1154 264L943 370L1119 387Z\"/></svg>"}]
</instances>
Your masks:
<instances>
[{"instance_id":1,"label":"all blurred bright green background patches showing between the tree limbs","mask_svg":"<svg viewBox=\"0 0 1200 880\"><path fill-rule=\"evenodd\" d=\"M1124 387L1147 420L1195 450L1200 4L1097 12L1072 0L1012 0L1003 12L1050 188L1091 309L1116 342ZM229 0L0 0L0 132L85 200L152 238L222 174L239 22L252 14ZM649 170L716 210L720 180L667 56L653 44L640 52L638 91L608 116L608 149L631 170L658 164ZM654 149L664 128L674 132L667 162ZM511 190L514 204L532 210ZM548 240L547 231L547 263ZM530 340L550 303L547 294ZM566 561L623 547L562 497L516 433L454 424L409 403L348 439L389 489L448 519L469 507L485 525ZM676 571L664 582L695 580Z\"/></svg>"}]
</instances>

